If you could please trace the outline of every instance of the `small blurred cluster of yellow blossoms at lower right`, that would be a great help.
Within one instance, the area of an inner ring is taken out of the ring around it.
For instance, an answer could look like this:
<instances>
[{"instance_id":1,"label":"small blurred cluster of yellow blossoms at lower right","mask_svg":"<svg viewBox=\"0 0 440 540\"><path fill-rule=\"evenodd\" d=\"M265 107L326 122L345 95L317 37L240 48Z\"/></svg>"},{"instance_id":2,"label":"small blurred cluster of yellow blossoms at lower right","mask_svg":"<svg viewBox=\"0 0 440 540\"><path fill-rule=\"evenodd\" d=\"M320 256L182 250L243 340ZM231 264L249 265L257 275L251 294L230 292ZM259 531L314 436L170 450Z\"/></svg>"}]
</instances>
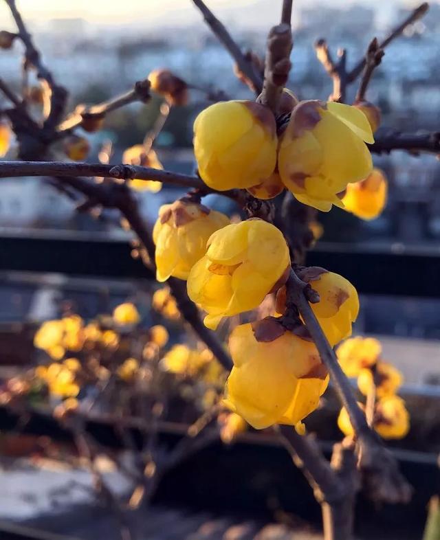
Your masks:
<instances>
[{"instance_id":1,"label":"small blurred cluster of yellow blossoms at lower right","mask_svg":"<svg viewBox=\"0 0 440 540\"><path fill-rule=\"evenodd\" d=\"M337 350L344 373L358 378L358 388L364 396L373 392L377 398L373 428L385 439L399 439L410 429L410 416L402 398L396 395L403 376L390 363L382 360L382 346L372 337L347 339ZM362 409L364 405L359 404ZM338 426L345 435L353 435L349 415L342 409Z\"/></svg>"}]
</instances>

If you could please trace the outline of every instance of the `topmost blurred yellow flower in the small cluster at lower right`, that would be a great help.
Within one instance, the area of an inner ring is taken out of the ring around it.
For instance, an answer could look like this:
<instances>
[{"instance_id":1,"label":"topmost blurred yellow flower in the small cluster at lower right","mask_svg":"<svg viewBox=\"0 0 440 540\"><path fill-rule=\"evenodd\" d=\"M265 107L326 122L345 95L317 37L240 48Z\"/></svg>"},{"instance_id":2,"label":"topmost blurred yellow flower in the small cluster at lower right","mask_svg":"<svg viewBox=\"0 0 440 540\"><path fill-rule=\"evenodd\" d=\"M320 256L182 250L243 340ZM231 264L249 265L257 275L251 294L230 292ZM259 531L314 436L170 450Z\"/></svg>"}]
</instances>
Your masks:
<instances>
[{"instance_id":1,"label":"topmost blurred yellow flower in the small cluster at lower right","mask_svg":"<svg viewBox=\"0 0 440 540\"><path fill-rule=\"evenodd\" d=\"M336 355L347 377L357 377L363 368L371 368L382 355L382 345L374 337L351 337L338 346Z\"/></svg>"}]
</instances>

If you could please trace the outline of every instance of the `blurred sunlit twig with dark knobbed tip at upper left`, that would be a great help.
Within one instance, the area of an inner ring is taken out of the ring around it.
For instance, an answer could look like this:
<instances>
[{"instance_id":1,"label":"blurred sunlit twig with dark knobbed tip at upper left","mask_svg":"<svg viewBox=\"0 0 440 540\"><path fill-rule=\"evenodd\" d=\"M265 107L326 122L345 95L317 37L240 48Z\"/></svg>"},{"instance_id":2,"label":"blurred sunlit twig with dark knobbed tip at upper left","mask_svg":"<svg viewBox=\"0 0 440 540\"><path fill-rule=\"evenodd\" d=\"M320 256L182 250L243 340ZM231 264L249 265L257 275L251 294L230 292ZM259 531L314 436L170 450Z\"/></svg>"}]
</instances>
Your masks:
<instances>
[{"instance_id":1,"label":"blurred sunlit twig with dark knobbed tip at upper left","mask_svg":"<svg viewBox=\"0 0 440 540\"><path fill-rule=\"evenodd\" d=\"M120 109L121 107L135 101L147 102L150 99L150 82L148 79L140 80L135 83L132 90L104 101L86 109L85 106L77 108L62 124L58 126L58 131L62 135L67 135L72 129L83 124L87 118L103 118L107 113Z\"/></svg>"}]
</instances>

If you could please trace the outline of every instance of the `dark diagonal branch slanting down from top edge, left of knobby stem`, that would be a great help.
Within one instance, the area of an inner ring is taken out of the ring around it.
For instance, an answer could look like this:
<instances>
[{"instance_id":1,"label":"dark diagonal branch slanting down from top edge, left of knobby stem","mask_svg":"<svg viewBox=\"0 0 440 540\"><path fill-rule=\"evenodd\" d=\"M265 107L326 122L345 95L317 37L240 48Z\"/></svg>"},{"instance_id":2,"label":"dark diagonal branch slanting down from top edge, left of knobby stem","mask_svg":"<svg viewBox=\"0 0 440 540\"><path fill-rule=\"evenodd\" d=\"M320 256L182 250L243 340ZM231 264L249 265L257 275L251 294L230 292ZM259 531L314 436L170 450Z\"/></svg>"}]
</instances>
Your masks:
<instances>
[{"instance_id":1,"label":"dark diagonal branch slanting down from top edge, left of knobby stem","mask_svg":"<svg viewBox=\"0 0 440 540\"><path fill-rule=\"evenodd\" d=\"M225 49L228 50L232 58L234 58L239 69L250 81L252 81L252 85L254 85L256 93L260 93L261 89L263 88L263 80L261 75L255 69L254 65L246 60L239 45L235 43L228 30L226 30L225 25L223 25L223 23L221 23L219 19L214 16L212 11L202 0L192 1L201 11L203 19L205 19L212 32L217 36L217 38L219 38L219 41L223 44Z\"/></svg>"}]
</instances>

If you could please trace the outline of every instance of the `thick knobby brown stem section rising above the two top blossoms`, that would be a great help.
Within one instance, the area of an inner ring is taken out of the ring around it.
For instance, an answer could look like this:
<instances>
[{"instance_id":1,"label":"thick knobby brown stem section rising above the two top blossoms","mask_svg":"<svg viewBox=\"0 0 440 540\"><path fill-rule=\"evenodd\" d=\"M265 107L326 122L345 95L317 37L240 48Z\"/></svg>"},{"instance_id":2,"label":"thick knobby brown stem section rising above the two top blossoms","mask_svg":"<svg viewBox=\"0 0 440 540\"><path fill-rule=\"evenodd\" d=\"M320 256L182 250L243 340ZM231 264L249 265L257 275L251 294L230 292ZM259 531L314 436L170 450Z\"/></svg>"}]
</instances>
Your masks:
<instances>
[{"instance_id":1,"label":"thick knobby brown stem section rising above the two top blossoms","mask_svg":"<svg viewBox=\"0 0 440 540\"><path fill-rule=\"evenodd\" d=\"M290 24L281 23L271 28L267 37L263 91L258 101L268 106L274 112L274 115L278 113L280 96L292 67L290 61L292 47L292 28Z\"/></svg>"}]
</instances>

